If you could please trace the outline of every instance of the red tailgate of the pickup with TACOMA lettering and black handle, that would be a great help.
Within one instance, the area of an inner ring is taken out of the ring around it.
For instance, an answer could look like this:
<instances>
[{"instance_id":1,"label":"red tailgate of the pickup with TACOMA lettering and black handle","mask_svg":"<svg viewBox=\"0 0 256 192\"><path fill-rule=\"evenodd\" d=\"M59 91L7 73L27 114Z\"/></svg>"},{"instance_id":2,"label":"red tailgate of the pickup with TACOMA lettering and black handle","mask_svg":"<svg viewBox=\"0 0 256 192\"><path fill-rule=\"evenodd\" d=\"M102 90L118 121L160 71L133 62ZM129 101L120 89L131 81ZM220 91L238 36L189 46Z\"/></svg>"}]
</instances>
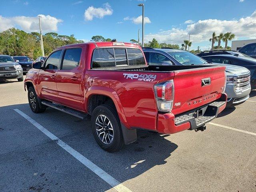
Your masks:
<instances>
[{"instance_id":1,"label":"red tailgate of the pickup with TACOMA lettering and black handle","mask_svg":"<svg viewBox=\"0 0 256 192\"><path fill-rule=\"evenodd\" d=\"M174 71L174 115L199 108L217 98L225 86L225 66Z\"/></svg>"}]
</instances>

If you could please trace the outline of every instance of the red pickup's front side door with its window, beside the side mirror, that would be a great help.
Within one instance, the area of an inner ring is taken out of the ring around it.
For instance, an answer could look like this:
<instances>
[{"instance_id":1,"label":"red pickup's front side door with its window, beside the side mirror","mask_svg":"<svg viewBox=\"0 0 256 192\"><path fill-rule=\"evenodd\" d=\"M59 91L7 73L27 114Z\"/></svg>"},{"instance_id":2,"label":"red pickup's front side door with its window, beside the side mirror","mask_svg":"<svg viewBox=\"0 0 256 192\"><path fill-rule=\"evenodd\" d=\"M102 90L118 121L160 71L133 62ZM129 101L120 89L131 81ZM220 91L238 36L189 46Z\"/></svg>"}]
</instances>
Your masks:
<instances>
[{"instance_id":1,"label":"red pickup's front side door with its window, beside the side mirror","mask_svg":"<svg viewBox=\"0 0 256 192\"><path fill-rule=\"evenodd\" d=\"M62 50L53 52L44 63L44 69L39 71L38 76L38 91L40 96L53 102L58 102L56 75L61 53Z\"/></svg>"}]
</instances>

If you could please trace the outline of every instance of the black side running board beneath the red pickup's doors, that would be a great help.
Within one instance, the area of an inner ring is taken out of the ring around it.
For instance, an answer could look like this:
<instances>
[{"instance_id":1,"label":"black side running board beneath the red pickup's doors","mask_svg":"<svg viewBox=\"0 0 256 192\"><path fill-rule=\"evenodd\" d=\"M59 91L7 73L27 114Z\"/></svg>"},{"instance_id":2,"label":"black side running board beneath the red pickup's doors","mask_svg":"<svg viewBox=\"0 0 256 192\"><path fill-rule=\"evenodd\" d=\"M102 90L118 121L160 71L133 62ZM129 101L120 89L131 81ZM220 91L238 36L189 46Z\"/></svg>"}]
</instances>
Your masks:
<instances>
[{"instance_id":1,"label":"black side running board beneath the red pickup's doors","mask_svg":"<svg viewBox=\"0 0 256 192\"><path fill-rule=\"evenodd\" d=\"M74 110L72 108L69 108L69 107L66 107L66 106L63 106L60 104L56 104L56 103L52 103L52 102L48 102L48 101L44 101L44 100L42 101L42 104L46 105L48 107L60 110L64 113L70 114L72 116L78 117L80 119L84 119L87 116L87 114L84 114L82 112L79 112L77 110Z\"/></svg>"}]
</instances>

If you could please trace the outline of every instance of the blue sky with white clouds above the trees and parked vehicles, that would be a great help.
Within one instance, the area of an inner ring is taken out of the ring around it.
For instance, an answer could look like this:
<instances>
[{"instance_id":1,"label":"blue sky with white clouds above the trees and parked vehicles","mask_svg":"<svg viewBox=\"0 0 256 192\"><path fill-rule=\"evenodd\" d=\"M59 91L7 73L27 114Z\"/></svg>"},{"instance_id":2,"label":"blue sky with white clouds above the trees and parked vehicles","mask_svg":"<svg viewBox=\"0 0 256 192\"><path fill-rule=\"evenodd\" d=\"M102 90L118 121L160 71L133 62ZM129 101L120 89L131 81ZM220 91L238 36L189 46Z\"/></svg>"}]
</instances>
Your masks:
<instances>
[{"instance_id":1,"label":"blue sky with white clouds above the trees and parked vehicles","mask_svg":"<svg viewBox=\"0 0 256 192\"><path fill-rule=\"evenodd\" d=\"M129 42L138 39L145 9L144 42L181 44L208 50L212 32L231 31L235 40L256 39L256 0L0 0L0 32L11 27L26 32L57 32L85 42L92 36ZM140 31L141 40L141 31ZM217 45L217 44L216 44ZM231 42L228 43L231 46ZM211 46L211 44L210 44ZM224 46L224 42L222 42Z\"/></svg>"}]
</instances>

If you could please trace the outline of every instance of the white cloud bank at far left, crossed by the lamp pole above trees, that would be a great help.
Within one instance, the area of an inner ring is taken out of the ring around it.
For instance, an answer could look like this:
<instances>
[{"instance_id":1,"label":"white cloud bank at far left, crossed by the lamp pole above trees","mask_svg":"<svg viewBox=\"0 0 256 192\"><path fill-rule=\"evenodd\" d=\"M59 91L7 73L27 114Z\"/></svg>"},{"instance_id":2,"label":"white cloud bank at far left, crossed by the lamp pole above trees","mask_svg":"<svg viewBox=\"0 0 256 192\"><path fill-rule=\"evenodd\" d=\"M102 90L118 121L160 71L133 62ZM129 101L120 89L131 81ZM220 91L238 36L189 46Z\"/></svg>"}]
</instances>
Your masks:
<instances>
[{"instance_id":1,"label":"white cloud bank at far left, crossed by the lamp pole above trees","mask_svg":"<svg viewBox=\"0 0 256 192\"><path fill-rule=\"evenodd\" d=\"M57 19L50 15L38 15L41 16L42 31L52 32L58 30L58 24L63 22L61 19ZM20 28L26 32L39 32L39 20L36 17L15 16L15 17L2 17L0 16L0 31L6 30L11 27Z\"/></svg>"}]
</instances>

